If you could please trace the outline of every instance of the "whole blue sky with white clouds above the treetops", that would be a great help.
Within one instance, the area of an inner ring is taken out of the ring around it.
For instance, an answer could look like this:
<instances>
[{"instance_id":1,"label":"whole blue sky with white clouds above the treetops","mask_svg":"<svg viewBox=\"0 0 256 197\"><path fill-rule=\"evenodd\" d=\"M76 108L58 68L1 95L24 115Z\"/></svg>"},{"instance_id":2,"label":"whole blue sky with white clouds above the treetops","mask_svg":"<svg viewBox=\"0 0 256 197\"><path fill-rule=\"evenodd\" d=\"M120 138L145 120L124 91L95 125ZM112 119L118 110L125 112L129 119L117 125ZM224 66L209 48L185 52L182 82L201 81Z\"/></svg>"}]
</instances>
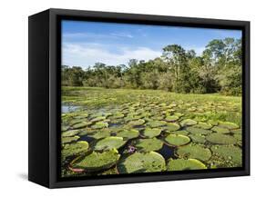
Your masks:
<instances>
[{"instance_id":1,"label":"whole blue sky with white clouds above the treetops","mask_svg":"<svg viewBox=\"0 0 256 197\"><path fill-rule=\"evenodd\" d=\"M159 25L62 21L62 64L87 68L97 62L117 65L129 59L148 61L168 44L201 54L212 39L241 38L239 30Z\"/></svg>"}]
</instances>

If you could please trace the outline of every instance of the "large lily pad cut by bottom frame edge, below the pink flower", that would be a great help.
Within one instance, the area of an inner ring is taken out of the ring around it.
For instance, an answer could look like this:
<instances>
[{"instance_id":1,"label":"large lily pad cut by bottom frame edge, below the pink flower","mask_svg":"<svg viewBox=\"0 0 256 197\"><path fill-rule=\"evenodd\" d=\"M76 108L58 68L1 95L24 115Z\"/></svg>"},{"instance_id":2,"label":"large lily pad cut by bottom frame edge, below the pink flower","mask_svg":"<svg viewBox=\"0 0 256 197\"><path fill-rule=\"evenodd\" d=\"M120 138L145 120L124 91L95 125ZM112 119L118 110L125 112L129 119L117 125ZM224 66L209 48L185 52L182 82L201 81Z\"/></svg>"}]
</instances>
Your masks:
<instances>
[{"instance_id":1,"label":"large lily pad cut by bottom frame edge, below the pink flower","mask_svg":"<svg viewBox=\"0 0 256 197\"><path fill-rule=\"evenodd\" d=\"M165 170L165 160L156 152L133 153L118 163L119 173L162 172Z\"/></svg>"}]
</instances>

